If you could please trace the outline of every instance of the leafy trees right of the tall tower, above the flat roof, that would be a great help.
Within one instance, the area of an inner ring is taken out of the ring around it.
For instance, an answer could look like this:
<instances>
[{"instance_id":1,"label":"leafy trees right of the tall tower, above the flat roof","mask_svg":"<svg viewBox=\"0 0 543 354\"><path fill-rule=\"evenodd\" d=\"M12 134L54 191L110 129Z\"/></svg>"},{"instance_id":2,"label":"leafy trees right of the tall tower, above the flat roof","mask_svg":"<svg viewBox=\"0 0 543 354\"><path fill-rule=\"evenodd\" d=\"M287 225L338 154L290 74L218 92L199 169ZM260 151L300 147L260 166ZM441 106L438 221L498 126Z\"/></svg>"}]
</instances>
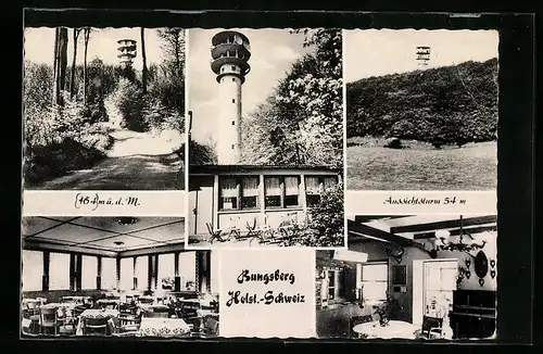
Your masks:
<instances>
[{"instance_id":1,"label":"leafy trees right of the tall tower, above the flat roof","mask_svg":"<svg viewBox=\"0 0 543 354\"><path fill-rule=\"evenodd\" d=\"M243 117L243 163L341 167L341 30L295 33L304 34L304 46L314 50L294 62L274 94Z\"/></svg>"}]
</instances>

